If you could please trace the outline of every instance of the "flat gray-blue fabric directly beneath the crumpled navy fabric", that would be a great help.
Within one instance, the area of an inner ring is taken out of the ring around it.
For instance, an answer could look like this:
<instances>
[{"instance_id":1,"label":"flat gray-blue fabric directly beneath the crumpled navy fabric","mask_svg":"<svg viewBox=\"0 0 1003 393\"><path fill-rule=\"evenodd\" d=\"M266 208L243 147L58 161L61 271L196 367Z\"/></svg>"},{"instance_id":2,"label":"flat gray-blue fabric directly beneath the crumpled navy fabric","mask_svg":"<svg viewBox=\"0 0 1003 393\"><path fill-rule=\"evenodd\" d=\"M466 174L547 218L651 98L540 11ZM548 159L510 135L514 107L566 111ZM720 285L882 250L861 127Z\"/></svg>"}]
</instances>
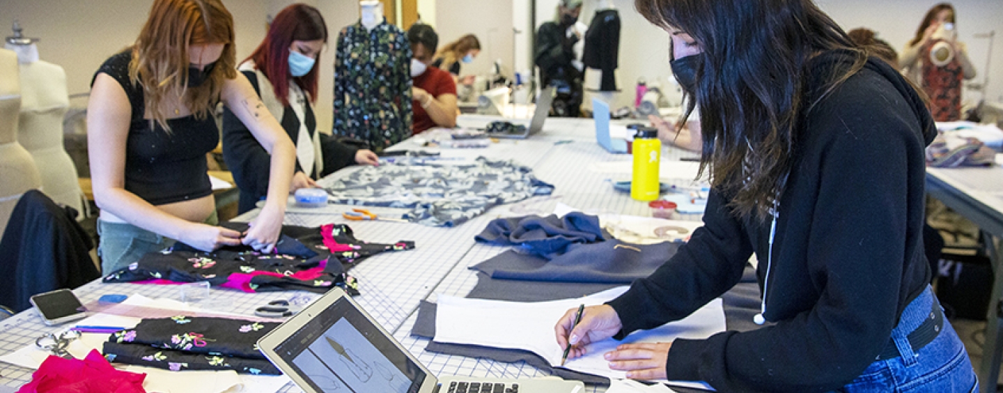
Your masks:
<instances>
[{"instance_id":1,"label":"flat gray-blue fabric directly beneath the crumpled navy fabric","mask_svg":"<svg viewBox=\"0 0 1003 393\"><path fill-rule=\"evenodd\" d=\"M492 279L533 282L630 284L650 276L676 254L681 243L632 245L617 240L572 244L550 261L510 250L473 269Z\"/></svg>"}]
</instances>

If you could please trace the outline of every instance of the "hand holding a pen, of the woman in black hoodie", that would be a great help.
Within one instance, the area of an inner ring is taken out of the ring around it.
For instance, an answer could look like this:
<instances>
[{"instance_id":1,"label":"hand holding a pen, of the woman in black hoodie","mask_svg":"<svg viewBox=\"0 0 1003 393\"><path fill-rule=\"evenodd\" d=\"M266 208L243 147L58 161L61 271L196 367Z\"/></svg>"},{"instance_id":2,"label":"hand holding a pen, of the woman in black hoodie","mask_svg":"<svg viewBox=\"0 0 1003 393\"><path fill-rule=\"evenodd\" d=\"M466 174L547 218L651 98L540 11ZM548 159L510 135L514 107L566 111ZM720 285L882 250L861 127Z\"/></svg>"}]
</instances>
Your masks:
<instances>
[{"instance_id":1,"label":"hand holding a pen, of the woman in black hoodie","mask_svg":"<svg viewBox=\"0 0 1003 393\"><path fill-rule=\"evenodd\" d=\"M586 345L613 337L623 327L620 316L609 305L586 307L577 326L576 314L578 309L569 309L554 326L558 345L561 348L566 348L569 343L572 345L568 359L585 355Z\"/></svg>"}]
</instances>

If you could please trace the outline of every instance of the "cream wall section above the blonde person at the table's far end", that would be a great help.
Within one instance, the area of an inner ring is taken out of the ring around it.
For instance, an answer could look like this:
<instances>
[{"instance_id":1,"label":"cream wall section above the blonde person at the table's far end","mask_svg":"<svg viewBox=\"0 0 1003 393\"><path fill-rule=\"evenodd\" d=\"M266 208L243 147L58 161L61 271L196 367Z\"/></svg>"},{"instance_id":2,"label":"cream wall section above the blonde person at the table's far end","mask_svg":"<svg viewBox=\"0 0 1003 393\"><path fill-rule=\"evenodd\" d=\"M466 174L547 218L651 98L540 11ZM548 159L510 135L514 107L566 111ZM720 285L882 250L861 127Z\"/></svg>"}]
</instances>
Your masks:
<instances>
[{"instance_id":1,"label":"cream wall section above the blonde person at the table's far end","mask_svg":"<svg viewBox=\"0 0 1003 393\"><path fill-rule=\"evenodd\" d=\"M513 1L508 0L437 0L435 31L439 48L463 35L472 33L480 41L480 54L460 73L487 74L494 60L501 59L503 72L513 75L515 38L513 36Z\"/></svg>"}]
</instances>

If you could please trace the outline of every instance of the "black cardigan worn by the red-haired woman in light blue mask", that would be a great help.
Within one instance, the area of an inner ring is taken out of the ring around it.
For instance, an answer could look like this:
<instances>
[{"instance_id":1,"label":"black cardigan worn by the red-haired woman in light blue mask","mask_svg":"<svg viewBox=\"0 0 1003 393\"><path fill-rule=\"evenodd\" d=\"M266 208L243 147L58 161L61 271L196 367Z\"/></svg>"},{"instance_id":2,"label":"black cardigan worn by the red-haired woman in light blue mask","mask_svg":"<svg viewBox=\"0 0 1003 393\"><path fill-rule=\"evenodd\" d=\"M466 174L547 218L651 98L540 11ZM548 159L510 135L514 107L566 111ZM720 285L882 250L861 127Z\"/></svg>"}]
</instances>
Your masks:
<instances>
[{"instance_id":1,"label":"black cardigan worn by the red-haired woman in light blue mask","mask_svg":"<svg viewBox=\"0 0 1003 393\"><path fill-rule=\"evenodd\" d=\"M258 95L261 95L258 75L253 71L241 72L251 81ZM317 119L314 117L312 105L306 105L304 116L306 119L303 121L306 121L307 129L317 132ZM293 139L293 144L296 144L299 138L301 120L296 117L293 108L287 105L282 117L276 116L276 120L279 120L282 128ZM355 163L355 152L358 151L358 148L338 142L334 136L323 132L320 134L320 142L321 154L324 157L324 170L319 176L315 173L315 179ZM268 194L268 177L272 156L230 108L225 108L223 112L223 159L227 162L227 168L234 174L234 181L237 182L237 187L241 190L238 212L243 214L253 210L255 204ZM303 170L299 160L296 161L296 170Z\"/></svg>"}]
</instances>

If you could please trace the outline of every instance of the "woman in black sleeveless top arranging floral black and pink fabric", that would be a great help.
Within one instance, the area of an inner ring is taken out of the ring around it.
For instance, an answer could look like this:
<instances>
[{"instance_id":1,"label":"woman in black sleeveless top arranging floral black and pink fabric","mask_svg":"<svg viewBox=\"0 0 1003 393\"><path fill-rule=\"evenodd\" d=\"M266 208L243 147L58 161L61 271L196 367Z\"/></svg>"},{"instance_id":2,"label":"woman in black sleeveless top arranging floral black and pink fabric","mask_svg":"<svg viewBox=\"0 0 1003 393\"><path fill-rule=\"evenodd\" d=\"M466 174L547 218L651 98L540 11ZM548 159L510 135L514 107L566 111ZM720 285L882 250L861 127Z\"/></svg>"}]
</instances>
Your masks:
<instances>
[{"instance_id":1,"label":"woman in black sleeveless top arranging floral black and pink fabric","mask_svg":"<svg viewBox=\"0 0 1003 393\"><path fill-rule=\"evenodd\" d=\"M172 240L205 251L245 244L264 252L278 241L296 153L236 71L234 52L233 17L220 0L156 0L135 44L95 74L88 144L105 274ZM216 227L209 198L205 156L219 143L213 113L220 101L272 154L268 202L246 234Z\"/></svg>"}]
</instances>

